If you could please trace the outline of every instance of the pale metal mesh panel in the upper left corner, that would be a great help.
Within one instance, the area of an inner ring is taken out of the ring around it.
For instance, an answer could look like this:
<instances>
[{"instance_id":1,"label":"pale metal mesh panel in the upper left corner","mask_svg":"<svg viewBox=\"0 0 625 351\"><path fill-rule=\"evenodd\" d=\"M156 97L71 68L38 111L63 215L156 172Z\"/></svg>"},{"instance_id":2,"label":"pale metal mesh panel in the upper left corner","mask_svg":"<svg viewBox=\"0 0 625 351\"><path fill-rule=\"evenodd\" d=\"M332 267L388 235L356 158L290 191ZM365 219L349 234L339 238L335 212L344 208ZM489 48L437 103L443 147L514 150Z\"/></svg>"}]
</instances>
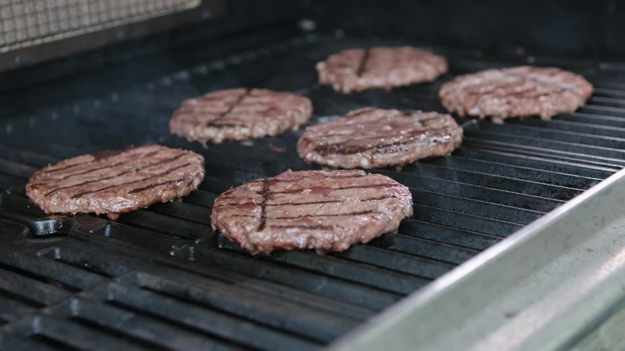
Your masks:
<instances>
[{"instance_id":1,"label":"pale metal mesh panel in the upper left corner","mask_svg":"<svg viewBox=\"0 0 625 351\"><path fill-rule=\"evenodd\" d=\"M143 21L201 0L0 0L0 52Z\"/></svg>"}]
</instances>

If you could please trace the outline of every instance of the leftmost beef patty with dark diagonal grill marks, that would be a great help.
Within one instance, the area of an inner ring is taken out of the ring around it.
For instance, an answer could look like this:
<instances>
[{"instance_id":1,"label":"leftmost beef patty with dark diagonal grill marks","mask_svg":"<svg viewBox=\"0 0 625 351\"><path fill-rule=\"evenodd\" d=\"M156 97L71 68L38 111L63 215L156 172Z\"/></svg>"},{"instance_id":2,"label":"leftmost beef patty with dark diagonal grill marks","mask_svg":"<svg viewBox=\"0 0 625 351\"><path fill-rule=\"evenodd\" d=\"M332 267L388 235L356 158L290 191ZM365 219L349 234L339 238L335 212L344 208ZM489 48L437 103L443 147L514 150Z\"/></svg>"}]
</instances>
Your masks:
<instances>
[{"instance_id":1,"label":"leftmost beef patty with dark diagonal grill marks","mask_svg":"<svg viewBox=\"0 0 625 351\"><path fill-rule=\"evenodd\" d=\"M204 179L204 157L153 145L73 157L35 172L26 195L46 213L119 214L178 199Z\"/></svg>"}]
</instances>

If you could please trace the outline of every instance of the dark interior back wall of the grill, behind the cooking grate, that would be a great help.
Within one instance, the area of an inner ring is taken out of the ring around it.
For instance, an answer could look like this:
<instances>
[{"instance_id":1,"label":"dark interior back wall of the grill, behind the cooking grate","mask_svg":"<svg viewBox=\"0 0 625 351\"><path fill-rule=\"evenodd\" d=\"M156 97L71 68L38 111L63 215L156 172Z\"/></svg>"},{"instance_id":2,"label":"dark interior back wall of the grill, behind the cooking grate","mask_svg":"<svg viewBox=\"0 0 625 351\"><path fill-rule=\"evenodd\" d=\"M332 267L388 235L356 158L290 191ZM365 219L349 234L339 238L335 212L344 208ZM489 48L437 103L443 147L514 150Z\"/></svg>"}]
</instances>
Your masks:
<instances>
[{"instance_id":1,"label":"dark interior back wall of the grill, behind the cooking grate","mask_svg":"<svg viewBox=\"0 0 625 351\"><path fill-rule=\"evenodd\" d=\"M210 1L210 0L204 0ZM395 39L422 46L474 49L487 54L554 55L561 59L624 62L625 2L601 1L332 1L225 0L226 16L121 42L34 66L0 72L0 92L36 86L86 71L128 66L126 79L168 72L180 48L232 42L259 31L301 31L310 19L321 34ZM223 45L219 47L224 47ZM227 52L214 52L223 56ZM189 52L192 55L192 52ZM136 69L129 62L137 63Z\"/></svg>"}]
</instances>

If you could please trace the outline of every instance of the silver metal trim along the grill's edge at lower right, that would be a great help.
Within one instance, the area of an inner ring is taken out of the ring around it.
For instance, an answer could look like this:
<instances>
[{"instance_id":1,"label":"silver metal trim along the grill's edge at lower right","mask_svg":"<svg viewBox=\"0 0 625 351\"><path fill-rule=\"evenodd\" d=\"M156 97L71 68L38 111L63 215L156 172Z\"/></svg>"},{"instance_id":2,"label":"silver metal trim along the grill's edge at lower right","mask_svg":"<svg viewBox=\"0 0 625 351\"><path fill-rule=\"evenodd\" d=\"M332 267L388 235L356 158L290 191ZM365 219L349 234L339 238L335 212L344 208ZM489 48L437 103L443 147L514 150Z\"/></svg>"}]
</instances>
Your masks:
<instances>
[{"instance_id":1,"label":"silver metal trim along the grill's edge at lower right","mask_svg":"<svg viewBox=\"0 0 625 351\"><path fill-rule=\"evenodd\" d=\"M624 199L622 170L328 350L569 349L625 299Z\"/></svg>"}]
</instances>

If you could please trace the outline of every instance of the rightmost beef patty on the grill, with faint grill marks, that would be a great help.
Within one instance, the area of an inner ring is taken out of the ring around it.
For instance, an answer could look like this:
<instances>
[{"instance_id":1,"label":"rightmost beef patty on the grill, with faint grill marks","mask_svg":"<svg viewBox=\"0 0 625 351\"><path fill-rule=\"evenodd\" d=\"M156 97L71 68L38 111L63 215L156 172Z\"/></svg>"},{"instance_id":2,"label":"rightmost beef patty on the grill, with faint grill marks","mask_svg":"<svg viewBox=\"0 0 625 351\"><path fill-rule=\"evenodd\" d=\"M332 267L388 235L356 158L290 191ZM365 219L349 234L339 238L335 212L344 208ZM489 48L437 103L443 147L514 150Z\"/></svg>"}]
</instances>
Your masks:
<instances>
[{"instance_id":1,"label":"rightmost beef patty on the grill, with faint grill marks","mask_svg":"<svg viewBox=\"0 0 625 351\"><path fill-rule=\"evenodd\" d=\"M519 116L573 112L592 94L592 84L572 72L531 66L456 77L441 87L442 106L460 116L491 116L495 123Z\"/></svg>"}]
</instances>

